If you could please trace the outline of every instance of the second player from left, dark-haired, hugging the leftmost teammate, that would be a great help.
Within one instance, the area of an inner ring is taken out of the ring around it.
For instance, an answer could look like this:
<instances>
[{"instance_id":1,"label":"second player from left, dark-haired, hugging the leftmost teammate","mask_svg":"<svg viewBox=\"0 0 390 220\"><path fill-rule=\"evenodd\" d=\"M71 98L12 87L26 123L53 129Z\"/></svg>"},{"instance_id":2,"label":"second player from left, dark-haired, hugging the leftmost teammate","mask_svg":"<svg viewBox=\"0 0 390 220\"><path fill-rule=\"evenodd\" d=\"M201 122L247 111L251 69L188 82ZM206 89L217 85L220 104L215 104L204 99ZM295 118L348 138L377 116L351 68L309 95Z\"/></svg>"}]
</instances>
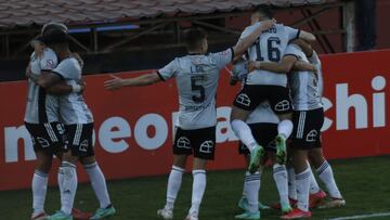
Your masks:
<instances>
[{"instance_id":1,"label":"second player from left, dark-haired, hugging the leftmost teammate","mask_svg":"<svg viewBox=\"0 0 390 220\"><path fill-rule=\"evenodd\" d=\"M42 31L42 39L61 60L53 70L41 75L31 75L31 79L47 89L57 82L66 81L74 87L81 80L81 66L70 53L67 44L67 27L63 24L49 24ZM92 132L93 117L81 93L70 93L58 96L58 111L65 125L67 143L64 147L63 161L58 169L58 185L61 190L61 210L50 216L50 220L72 220L70 210L77 189L76 164L81 160L88 173L93 190L100 202L100 208L90 219L102 219L115 215L110 204L104 174L100 169L93 153Z\"/></svg>"}]
</instances>

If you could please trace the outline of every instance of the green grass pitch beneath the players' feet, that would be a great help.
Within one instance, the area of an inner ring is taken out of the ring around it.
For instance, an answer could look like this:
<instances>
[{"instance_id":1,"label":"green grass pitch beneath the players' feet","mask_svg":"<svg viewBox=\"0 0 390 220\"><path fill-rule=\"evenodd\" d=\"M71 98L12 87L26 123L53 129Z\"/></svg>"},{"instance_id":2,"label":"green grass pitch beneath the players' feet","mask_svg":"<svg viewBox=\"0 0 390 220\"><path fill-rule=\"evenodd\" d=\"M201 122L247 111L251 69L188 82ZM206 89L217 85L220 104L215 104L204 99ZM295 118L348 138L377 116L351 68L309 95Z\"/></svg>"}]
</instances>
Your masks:
<instances>
[{"instance_id":1,"label":"green grass pitch beneath the players' feet","mask_svg":"<svg viewBox=\"0 0 390 220\"><path fill-rule=\"evenodd\" d=\"M330 161L336 181L342 192L344 208L313 210L312 219L330 219L390 211L390 156ZM244 170L210 171L200 207L200 220L233 220L239 213L236 204L242 195ZM320 182L320 181L318 181ZM165 204L167 176L109 181L108 187L118 213L113 220L154 220L156 210ZM186 173L176 203L174 219L183 220L191 205L192 177ZM263 204L277 200L271 170L262 176L260 199ZM0 219L28 219L31 193L29 190L0 192ZM98 202L90 184L80 184L75 206L93 211ZM46 209L49 213L60 207L57 187L48 191ZM264 210L261 219L280 219L277 210ZM390 219L390 217L369 218Z\"/></svg>"}]
</instances>

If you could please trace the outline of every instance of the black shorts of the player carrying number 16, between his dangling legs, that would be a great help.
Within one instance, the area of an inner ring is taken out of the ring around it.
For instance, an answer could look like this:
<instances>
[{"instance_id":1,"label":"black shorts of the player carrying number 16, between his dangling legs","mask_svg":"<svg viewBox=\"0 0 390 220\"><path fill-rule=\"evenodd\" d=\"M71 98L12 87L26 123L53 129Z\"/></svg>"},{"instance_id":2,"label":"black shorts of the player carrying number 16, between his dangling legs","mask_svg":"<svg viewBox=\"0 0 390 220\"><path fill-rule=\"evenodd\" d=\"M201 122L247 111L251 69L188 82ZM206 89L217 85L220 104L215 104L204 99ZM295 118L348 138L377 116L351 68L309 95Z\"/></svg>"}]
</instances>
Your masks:
<instances>
[{"instance_id":1,"label":"black shorts of the player carrying number 16, between his dangling legs","mask_svg":"<svg viewBox=\"0 0 390 220\"><path fill-rule=\"evenodd\" d=\"M248 125L255 140L265 148L265 151L276 152L275 138L277 135L277 124L269 122L259 122L259 124L249 124ZM238 153L239 154L250 154L248 147L238 142Z\"/></svg>"}]
</instances>

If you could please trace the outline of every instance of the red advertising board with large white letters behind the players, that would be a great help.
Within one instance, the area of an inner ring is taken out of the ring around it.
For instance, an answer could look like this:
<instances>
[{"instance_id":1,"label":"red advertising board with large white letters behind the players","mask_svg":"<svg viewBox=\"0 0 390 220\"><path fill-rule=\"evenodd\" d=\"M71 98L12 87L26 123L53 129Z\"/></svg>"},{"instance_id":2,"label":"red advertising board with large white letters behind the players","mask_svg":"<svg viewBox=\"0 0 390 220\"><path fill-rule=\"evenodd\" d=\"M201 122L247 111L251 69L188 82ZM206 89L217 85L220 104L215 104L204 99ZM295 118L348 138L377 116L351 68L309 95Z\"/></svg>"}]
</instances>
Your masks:
<instances>
[{"instance_id":1,"label":"red advertising board with large white letters behind the players","mask_svg":"<svg viewBox=\"0 0 390 220\"><path fill-rule=\"evenodd\" d=\"M390 51L322 56L325 79L324 152L328 158L390 154L388 61ZM120 73L133 77L145 72ZM172 163L172 121L178 109L174 80L109 92L108 75L88 76L84 92L95 119L95 153L107 179L164 174ZM218 89L216 160L210 169L243 168L229 126L230 105L239 89L222 73ZM35 154L23 126L26 82L0 83L0 190L29 187ZM79 166L80 181L87 177ZM50 183L55 184L56 166Z\"/></svg>"}]
</instances>

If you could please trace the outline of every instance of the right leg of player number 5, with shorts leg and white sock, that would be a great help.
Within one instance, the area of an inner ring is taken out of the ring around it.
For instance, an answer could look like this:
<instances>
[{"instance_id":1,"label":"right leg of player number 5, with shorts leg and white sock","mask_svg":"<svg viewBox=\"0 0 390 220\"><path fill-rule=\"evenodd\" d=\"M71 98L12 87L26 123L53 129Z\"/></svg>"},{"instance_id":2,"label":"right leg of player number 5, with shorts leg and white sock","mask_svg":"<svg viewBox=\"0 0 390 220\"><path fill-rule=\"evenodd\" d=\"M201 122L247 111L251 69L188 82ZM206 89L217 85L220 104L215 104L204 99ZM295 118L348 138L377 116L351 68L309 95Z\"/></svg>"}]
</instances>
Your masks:
<instances>
[{"instance_id":1,"label":"right leg of player number 5, with shorts leg and white sock","mask_svg":"<svg viewBox=\"0 0 390 220\"><path fill-rule=\"evenodd\" d=\"M197 220L206 190L206 165L214 158L216 127L192 130L190 140L194 148L193 190L186 220Z\"/></svg>"}]
</instances>

